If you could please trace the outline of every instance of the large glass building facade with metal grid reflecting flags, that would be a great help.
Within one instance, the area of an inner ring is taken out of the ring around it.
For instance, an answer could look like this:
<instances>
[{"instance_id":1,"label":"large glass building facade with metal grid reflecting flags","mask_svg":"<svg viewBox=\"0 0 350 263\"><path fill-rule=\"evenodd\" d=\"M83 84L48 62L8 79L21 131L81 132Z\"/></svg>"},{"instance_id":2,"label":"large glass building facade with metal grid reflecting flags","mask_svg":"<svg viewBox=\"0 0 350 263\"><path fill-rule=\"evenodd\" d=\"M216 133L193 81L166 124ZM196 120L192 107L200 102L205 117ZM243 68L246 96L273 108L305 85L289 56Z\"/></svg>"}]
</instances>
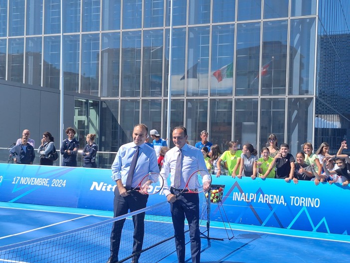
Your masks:
<instances>
[{"instance_id":1,"label":"large glass building facade with metal grid reflecting flags","mask_svg":"<svg viewBox=\"0 0 350 263\"><path fill-rule=\"evenodd\" d=\"M62 6L61 17L61 0L0 0L0 79L59 89L62 71L79 140L96 133L100 151L116 152L139 122L168 138L169 82L170 126L192 145L208 130L222 150L260 149L274 133L295 154L307 141L338 149L349 133L349 0Z\"/></svg>"}]
</instances>

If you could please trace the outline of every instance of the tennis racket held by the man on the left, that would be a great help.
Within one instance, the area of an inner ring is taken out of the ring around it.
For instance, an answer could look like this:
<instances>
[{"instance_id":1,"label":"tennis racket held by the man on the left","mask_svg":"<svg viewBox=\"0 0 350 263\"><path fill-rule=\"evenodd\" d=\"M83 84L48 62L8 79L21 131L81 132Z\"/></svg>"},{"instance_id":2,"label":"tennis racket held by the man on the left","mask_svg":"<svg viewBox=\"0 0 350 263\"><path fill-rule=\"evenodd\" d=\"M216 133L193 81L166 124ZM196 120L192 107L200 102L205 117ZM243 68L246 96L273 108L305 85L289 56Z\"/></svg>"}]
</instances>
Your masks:
<instances>
[{"instance_id":1,"label":"tennis racket held by the man on the left","mask_svg":"<svg viewBox=\"0 0 350 263\"><path fill-rule=\"evenodd\" d=\"M154 195L158 194L164 185L164 179L160 173L149 173L142 178L141 182L134 189L127 193L139 191L141 194Z\"/></svg>"}]
</instances>

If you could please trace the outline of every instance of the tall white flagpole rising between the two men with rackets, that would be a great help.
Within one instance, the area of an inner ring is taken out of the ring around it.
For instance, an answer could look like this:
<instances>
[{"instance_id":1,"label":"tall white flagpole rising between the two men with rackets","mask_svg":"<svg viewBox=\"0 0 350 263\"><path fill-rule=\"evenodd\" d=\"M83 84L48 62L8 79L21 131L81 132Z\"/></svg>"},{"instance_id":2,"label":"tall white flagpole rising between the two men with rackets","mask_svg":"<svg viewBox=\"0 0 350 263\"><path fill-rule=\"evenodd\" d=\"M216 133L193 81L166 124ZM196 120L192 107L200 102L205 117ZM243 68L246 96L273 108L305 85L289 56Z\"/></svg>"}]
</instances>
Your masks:
<instances>
[{"instance_id":1,"label":"tall white flagpole rising between the two men with rackets","mask_svg":"<svg viewBox=\"0 0 350 263\"><path fill-rule=\"evenodd\" d=\"M168 145L170 145L171 130L170 130L170 113L172 110L172 48L173 47L173 0L170 0L170 32L169 32L169 72L168 72L168 115L167 115L167 136L169 138Z\"/></svg>"}]
</instances>

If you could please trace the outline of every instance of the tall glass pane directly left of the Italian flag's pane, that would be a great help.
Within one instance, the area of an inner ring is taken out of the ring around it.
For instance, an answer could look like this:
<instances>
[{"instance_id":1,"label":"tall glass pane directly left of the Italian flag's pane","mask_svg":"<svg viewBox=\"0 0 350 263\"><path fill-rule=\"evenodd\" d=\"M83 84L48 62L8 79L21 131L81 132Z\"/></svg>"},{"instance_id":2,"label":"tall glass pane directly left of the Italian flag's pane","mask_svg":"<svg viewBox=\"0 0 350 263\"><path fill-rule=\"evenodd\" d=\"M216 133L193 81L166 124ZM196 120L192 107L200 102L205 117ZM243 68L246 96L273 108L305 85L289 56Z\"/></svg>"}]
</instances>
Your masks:
<instances>
[{"instance_id":1,"label":"tall glass pane directly left of the Italian flag's pane","mask_svg":"<svg viewBox=\"0 0 350 263\"><path fill-rule=\"evenodd\" d=\"M208 94L209 71L209 26L188 28L187 71L188 96L206 96Z\"/></svg>"}]
</instances>

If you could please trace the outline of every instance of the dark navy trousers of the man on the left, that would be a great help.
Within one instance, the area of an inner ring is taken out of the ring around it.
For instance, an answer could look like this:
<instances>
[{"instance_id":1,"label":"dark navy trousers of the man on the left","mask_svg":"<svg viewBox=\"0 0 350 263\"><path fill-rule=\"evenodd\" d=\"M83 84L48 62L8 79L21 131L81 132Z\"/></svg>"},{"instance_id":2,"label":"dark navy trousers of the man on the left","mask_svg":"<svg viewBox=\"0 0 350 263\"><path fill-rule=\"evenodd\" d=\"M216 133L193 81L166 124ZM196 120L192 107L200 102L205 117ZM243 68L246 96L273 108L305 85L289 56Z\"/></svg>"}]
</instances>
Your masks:
<instances>
[{"instance_id":1,"label":"dark navy trousers of the man on the left","mask_svg":"<svg viewBox=\"0 0 350 263\"><path fill-rule=\"evenodd\" d=\"M130 212L134 212L143 209L147 205L148 195L142 195L137 191L130 192L126 197L122 197L119 194L118 187L114 190L114 217L119 217ZM144 242L145 233L145 213L137 214L133 216L134 223L134 243L133 253L140 252ZM125 219L118 220L113 223L111 233L111 257L114 261L118 261L118 253L120 247L120 240L122 237L122 229L124 226ZM140 254L135 258L139 258Z\"/></svg>"}]
</instances>

